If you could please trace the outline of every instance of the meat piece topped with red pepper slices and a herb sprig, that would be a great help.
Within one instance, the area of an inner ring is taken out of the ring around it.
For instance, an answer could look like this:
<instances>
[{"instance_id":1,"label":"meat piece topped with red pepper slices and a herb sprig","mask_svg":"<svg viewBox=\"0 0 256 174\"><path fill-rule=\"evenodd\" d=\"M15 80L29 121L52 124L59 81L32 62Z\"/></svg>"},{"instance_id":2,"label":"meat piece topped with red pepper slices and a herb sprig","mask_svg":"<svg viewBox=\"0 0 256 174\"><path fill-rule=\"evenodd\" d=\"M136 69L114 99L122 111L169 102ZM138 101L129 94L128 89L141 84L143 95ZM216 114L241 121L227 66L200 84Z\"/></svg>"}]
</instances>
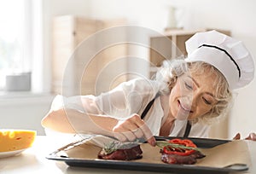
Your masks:
<instances>
[{"instance_id":1,"label":"meat piece topped with red pepper slices and a herb sprig","mask_svg":"<svg viewBox=\"0 0 256 174\"><path fill-rule=\"evenodd\" d=\"M157 142L157 145L161 148L161 160L167 164L194 165L196 159L206 156L189 139L176 138L166 142Z\"/></svg>"}]
</instances>

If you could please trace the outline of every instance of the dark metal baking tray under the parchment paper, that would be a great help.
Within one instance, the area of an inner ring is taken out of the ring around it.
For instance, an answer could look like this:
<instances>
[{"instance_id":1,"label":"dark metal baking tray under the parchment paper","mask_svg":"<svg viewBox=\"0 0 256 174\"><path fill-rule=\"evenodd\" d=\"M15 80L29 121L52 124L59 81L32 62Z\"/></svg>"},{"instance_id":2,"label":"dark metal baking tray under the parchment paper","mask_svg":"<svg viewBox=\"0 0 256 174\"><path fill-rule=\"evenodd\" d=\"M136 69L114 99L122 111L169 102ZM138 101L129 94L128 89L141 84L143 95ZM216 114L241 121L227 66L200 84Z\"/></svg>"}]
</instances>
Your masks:
<instances>
[{"instance_id":1,"label":"dark metal baking tray under the parchment paper","mask_svg":"<svg viewBox=\"0 0 256 174\"><path fill-rule=\"evenodd\" d=\"M162 141L166 139L173 139L177 137L172 136L155 136L157 141ZM181 138L182 137L178 137ZM230 140L219 140L219 139L209 139L209 138L189 138L198 148L214 148L218 145L230 142ZM46 158L58 161L64 161L69 166L76 167L93 167L93 168L104 168L104 169L119 169L119 170L129 170L129 171L156 171L156 172L170 172L170 173L230 173L247 171L247 165L230 165L227 167L208 167L208 166L198 166L198 165L170 165L165 163L145 163L139 162L137 160L123 161L123 160L108 160L108 159L91 159L91 158L73 158L65 153L66 149L73 148L77 146L80 142L73 142L68 144L63 148L59 148L55 152L49 154ZM86 152L86 148L84 153Z\"/></svg>"}]
</instances>

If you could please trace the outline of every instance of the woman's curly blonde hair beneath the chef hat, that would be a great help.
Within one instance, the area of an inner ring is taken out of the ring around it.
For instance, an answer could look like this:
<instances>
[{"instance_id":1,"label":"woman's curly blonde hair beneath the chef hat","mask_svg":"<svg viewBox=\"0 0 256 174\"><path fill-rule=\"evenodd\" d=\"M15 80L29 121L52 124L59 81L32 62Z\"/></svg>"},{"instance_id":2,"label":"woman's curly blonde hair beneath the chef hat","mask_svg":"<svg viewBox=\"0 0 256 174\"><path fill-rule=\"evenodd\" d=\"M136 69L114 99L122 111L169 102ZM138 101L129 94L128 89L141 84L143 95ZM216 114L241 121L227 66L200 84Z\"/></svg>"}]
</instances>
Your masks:
<instances>
[{"instance_id":1,"label":"woman's curly blonde hair beneath the chef hat","mask_svg":"<svg viewBox=\"0 0 256 174\"><path fill-rule=\"evenodd\" d=\"M162 94L170 94L172 87L176 84L177 78L188 72L197 74L214 73L217 77L215 81L212 82L212 85L216 87L213 92L216 94L215 98L218 101L217 104L215 104L208 113L192 121L194 123L201 122L211 124L213 121L226 116L233 103L232 92L223 74L215 67L202 61L195 61L193 63L178 59L174 61L164 61L154 78L162 84L160 92Z\"/></svg>"}]
</instances>

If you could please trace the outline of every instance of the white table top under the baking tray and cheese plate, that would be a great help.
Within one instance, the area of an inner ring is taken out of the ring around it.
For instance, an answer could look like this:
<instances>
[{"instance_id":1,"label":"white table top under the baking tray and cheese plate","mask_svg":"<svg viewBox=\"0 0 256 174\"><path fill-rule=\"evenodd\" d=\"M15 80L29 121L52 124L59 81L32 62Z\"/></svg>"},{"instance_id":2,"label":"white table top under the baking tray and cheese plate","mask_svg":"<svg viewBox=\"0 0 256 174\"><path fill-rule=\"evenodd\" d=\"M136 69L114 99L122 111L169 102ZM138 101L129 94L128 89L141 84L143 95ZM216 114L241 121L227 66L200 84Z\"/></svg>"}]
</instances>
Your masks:
<instances>
[{"instance_id":1,"label":"white table top under the baking tray and cheese plate","mask_svg":"<svg viewBox=\"0 0 256 174\"><path fill-rule=\"evenodd\" d=\"M248 148L251 153L252 163L249 171L242 173L256 173L256 142L248 141ZM148 171L121 171L101 168L70 167L62 161L46 159L45 156L61 148L60 143L49 139L47 136L37 136L32 148L26 149L22 154L0 159L0 173L2 174L24 174L24 173L54 173L54 174L115 174L115 173L132 173L148 174L160 172ZM241 172L240 172L241 173Z\"/></svg>"}]
</instances>

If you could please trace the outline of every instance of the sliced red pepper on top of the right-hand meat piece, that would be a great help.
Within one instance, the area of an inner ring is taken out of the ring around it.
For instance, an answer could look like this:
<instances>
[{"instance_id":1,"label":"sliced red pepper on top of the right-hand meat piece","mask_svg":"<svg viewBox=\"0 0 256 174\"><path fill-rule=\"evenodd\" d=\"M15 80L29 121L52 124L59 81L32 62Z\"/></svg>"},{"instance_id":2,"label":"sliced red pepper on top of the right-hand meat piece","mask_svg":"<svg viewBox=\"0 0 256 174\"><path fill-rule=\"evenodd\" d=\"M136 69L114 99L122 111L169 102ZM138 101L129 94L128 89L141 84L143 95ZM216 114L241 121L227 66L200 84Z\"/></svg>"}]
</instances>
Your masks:
<instances>
[{"instance_id":1,"label":"sliced red pepper on top of the right-hand meat piece","mask_svg":"<svg viewBox=\"0 0 256 174\"><path fill-rule=\"evenodd\" d=\"M183 145L185 147L197 148L195 143L189 139L182 140L182 139L175 138L168 142L173 143L173 144ZM163 148L163 152L165 154L177 154L177 155L187 156L189 154L195 153L195 150L194 149L173 148L170 145L170 146L165 146Z\"/></svg>"}]
</instances>

